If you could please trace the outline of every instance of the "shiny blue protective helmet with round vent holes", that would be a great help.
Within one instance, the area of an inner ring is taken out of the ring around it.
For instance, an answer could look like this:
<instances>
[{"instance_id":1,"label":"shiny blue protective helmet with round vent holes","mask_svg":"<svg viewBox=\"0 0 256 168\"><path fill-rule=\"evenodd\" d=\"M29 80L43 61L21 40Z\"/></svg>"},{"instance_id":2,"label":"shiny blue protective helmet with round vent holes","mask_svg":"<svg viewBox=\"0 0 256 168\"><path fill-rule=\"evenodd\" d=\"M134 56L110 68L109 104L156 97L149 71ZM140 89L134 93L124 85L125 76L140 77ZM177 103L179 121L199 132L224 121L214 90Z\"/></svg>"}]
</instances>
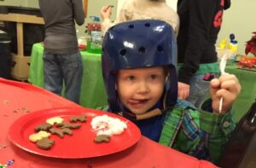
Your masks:
<instances>
[{"instance_id":1,"label":"shiny blue protective helmet with round vent holes","mask_svg":"<svg viewBox=\"0 0 256 168\"><path fill-rule=\"evenodd\" d=\"M177 45L172 26L162 20L132 20L106 32L102 44L102 73L111 112L120 112L115 90L116 71L143 67L168 67L162 107L177 101Z\"/></svg>"}]
</instances>

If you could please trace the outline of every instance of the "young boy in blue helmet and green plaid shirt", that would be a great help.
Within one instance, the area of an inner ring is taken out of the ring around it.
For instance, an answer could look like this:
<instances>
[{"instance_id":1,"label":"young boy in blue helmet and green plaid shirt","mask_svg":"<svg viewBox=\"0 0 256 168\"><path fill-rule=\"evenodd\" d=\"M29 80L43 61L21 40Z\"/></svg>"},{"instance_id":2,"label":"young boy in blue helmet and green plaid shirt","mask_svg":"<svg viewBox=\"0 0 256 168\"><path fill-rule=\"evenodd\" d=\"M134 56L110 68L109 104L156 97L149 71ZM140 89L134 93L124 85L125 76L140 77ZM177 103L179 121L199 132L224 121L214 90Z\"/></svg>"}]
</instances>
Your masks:
<instances>
[{"instance_id":1,"label":"young boy in blue helmet and green plaid shirt","mask_svg":"<svg viewBox=\"0 0 256 168\"><path fill-rule=\"evenodd\" d=\"M108 111L132 119L155 142L216 162L235 128L230 108L241 86L224 74L212 80L212 100L201 109L177 100L176 47L165 21L133 20L110 28L102 46Z\"/></svg>"}]
</instances>

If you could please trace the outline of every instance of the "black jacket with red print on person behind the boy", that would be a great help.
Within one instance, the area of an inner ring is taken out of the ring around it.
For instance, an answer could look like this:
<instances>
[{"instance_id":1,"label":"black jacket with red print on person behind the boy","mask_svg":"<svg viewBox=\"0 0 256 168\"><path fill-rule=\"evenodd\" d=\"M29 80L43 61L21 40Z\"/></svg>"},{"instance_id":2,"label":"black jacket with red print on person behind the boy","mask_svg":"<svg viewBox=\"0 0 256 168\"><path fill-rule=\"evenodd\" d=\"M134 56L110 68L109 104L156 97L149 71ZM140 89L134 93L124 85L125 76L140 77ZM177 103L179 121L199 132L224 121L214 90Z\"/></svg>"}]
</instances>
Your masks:
<instances>
[{"instance_id":1,"label":"black jacket with red print on person behind the boy","mask_svg":"<svg viewBox=\"0 0 256 168\"><path fill-rule=\"evenodd\" d=\"M215 43L224 9L230 0L178 0L180 29L177 36L177 62L183 63L178 81L189 84L200 64L218 61Z\"/></svg>"}]
</instances>

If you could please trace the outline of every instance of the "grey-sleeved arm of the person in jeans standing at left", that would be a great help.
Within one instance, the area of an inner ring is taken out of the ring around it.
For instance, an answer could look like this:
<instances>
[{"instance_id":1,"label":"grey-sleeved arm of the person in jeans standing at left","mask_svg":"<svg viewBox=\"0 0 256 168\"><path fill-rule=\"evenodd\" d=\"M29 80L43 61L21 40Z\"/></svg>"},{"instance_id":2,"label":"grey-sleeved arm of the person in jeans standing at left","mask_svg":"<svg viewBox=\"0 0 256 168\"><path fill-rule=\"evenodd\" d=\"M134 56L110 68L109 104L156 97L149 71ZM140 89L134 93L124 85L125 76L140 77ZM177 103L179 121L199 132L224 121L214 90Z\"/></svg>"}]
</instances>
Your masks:
<instances>
[{"instance_id":1,"label":"grey-sleeved arm of the person in jeans standing at left","mask_svg":"<svg viewBox=\"0 0 256 168\"><path fill-rule=\"evenodd\" d=\"M84 24L84 9L82 0L73 0L73 14L76 23L81 26Z\"/></svg>"}]
</instances>

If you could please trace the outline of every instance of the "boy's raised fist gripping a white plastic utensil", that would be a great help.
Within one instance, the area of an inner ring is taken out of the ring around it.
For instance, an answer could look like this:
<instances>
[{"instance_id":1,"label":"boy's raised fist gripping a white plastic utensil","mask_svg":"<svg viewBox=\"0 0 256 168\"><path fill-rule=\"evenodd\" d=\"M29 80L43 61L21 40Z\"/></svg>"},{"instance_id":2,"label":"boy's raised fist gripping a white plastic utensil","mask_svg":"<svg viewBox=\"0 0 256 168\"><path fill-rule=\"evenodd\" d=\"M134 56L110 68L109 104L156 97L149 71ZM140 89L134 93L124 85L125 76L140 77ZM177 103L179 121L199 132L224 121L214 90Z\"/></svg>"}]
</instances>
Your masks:
<instances>
[{"instance_id":1,"label":"boy's raised fist gripping a white plastic utensil","mask_svg":"<svg viewBox=\"0 0 256 168\"><path fill-rule=\"evenodd\" d=\"M212 109L219 113L220 98L223 97L222 111L226 113L230 110L232 103L241 91L241 85L235 75L224 73L219 78L213 78L210 83L210 92L212 96Z\"/></svg>"}]
</instances>

